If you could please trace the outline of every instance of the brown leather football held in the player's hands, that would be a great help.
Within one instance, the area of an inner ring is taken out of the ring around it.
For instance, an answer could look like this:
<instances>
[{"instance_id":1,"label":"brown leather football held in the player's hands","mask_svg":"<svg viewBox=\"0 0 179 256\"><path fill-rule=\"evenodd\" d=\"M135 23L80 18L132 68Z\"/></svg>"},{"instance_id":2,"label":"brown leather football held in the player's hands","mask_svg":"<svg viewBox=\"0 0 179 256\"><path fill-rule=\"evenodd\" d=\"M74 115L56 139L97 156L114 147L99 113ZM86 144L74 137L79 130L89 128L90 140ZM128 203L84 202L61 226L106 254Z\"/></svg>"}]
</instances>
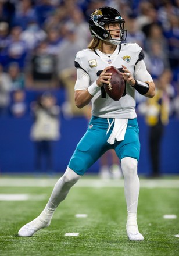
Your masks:
<instances>
[{"instance_id":1,"label":"brown leather football held in the player's hands","mask_svg":"<svg viewBox=\"0 0 179 256\"><path fill-rule=\"evenodd\" d=\"M112 66L108 72L112 73L111 79L108 79L109 84L104 84L106 93L114 101L119 101L125 89L125 81L121 72Z\"/></svg>"}]
</instances>

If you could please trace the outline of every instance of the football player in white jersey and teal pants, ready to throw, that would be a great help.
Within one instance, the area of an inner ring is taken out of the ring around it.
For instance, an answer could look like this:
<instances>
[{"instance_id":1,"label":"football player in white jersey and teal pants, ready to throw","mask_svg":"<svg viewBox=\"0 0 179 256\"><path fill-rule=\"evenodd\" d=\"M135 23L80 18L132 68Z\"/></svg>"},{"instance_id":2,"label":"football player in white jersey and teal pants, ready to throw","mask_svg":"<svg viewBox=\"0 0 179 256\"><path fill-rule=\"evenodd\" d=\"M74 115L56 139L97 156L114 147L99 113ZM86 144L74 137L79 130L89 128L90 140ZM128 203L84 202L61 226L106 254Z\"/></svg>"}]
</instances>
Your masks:
<instances>
[{"instance_id":1,"label":"football player in white jersey and teal pants, ready to throw","mask_svg":"<svg viewBox=\"0 0 179 256\"><path fill-rule=\"evenodd\" d=\"M135 90L145 97L155 95L155 84L144 63L144 53L137 44L121 43L126 39L124 19L110 7L96 9L90 16L92 41L77 53L75 102L78 108L92 103L92 118L87 132L77 144L66 172L55 184L44 211L19 230L19 236L33 236L49 226L53 212L66 198L70 188L107 150L113 148L121 162L127 204L127 236L133 241L144 240L137 225L139 178L137 163L140 143ZM126 87L119 101L105 92L115 66L123 73Z\"/></svg>"}]
</instances>

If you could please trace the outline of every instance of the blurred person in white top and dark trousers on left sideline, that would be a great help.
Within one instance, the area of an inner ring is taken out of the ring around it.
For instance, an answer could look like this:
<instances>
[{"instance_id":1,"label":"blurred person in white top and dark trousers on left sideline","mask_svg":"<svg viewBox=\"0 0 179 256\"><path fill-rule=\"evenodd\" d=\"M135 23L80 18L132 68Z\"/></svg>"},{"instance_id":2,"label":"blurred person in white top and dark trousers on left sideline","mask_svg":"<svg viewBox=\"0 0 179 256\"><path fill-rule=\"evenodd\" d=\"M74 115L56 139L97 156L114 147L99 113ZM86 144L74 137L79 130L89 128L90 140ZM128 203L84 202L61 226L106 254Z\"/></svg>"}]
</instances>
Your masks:
<instances>
[{"instance_id":1,"label":"blurred person in white top and dark trousers on left sideline","mask_svg":"<svg viewBox=\"0 0 179 256\"><path fill-rule=\"evenodd\" d=\"M53 141L60 138L59 106L52 94L44 93L31 105L34 123L30 138L35 143L35 171L42 172L42 161L45 159L45 170L53 172Z\"/></svg>"}]
</instances>

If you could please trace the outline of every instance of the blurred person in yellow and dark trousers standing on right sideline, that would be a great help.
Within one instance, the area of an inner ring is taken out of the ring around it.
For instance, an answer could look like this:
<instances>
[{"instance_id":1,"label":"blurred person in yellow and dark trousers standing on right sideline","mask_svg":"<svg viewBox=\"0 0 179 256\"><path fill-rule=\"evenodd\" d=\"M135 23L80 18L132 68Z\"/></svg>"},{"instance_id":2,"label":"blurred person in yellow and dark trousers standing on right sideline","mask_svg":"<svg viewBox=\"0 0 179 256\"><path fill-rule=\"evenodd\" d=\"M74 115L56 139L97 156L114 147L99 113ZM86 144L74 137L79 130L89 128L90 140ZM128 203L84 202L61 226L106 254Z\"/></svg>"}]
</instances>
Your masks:
<instances>
[{"instance_id":1,"label":"blurred person in yellow and dark trousers standing on right sideline","mask_svg":"<svg viewBox=\"0 0 179 256\"><path fill-rule=\"evenodd\" d=\"M170 99L174 96L174 88L171 85L171 70L164 70L156 81L156 95L145 103L139 104L138 111L145 116L149 126L149 155L151 159L151 177L160 177L161 143L164 137L164 127L169 123Z\"/></svg>"}]
</instances>

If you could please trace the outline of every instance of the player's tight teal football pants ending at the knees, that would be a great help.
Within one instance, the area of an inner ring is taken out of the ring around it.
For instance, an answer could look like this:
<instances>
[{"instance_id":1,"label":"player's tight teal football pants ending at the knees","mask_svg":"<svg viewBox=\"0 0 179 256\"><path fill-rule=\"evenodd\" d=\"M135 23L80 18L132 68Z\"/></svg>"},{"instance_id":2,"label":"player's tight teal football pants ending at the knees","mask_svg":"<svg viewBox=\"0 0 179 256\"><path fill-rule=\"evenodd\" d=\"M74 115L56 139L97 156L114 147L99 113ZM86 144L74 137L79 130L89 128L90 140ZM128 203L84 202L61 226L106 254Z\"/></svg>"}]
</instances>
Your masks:
<instances>
[{"instance_id":1,"label":"player's tight teal football pants ending at the knees","mask_svg":"<svg viewBox=\"0 0 179 256\"><path fill-rule=\"evenodd\" d=\"M110 123L113 119L109 118ZM69 168L74 170L78 175L84 175L88 168L93 165L107 150L114 149L121 160L124 157L139 159L140 143L139 128L137 118L128 119L126 134L124 140L116 141L114 144L107 142L112 133L114 124L110 127L106 118L97 118L92 116L88 129L80 142L77 144L70 162Z\"/></svg>"}]
</instances>

